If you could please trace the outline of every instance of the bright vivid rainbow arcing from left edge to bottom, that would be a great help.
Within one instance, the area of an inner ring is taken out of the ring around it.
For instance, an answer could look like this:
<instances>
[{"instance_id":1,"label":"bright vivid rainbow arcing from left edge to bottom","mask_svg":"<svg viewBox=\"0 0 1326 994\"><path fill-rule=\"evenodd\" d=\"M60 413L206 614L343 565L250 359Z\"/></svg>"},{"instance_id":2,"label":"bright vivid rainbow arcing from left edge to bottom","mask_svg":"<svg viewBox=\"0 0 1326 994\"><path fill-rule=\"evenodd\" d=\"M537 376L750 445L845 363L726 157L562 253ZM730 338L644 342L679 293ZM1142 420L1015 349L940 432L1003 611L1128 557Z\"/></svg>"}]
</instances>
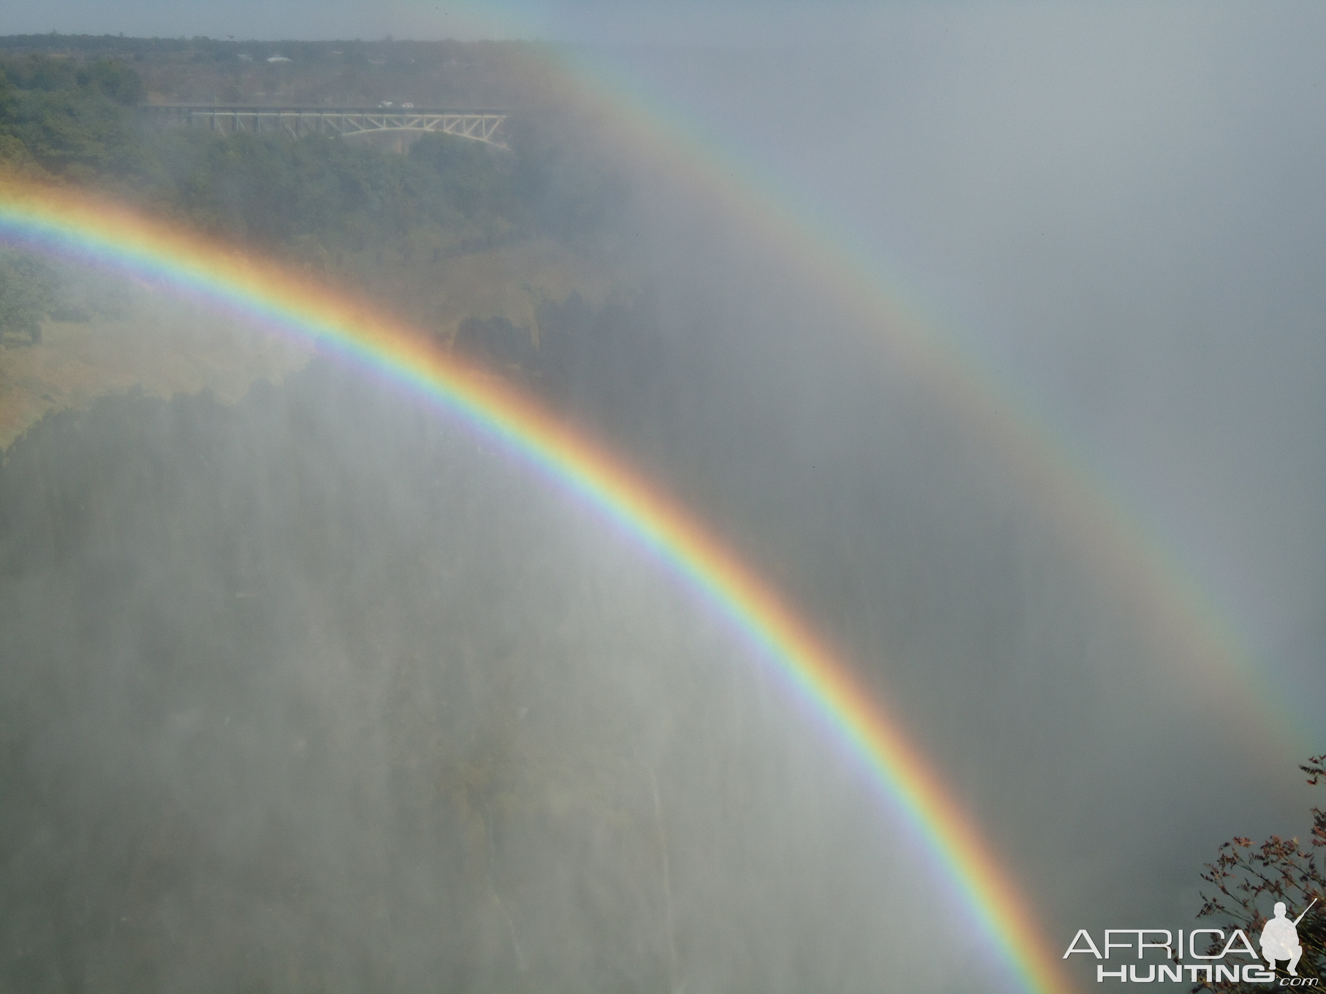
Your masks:
<instances>
[{"instance_id":1,"label":"bright vivid rainbow arcing from left edge to bottom","mask_svg":"<svg viewBox=\"0 0 1326 994\"><path fill-rule=\"evenodd\" d=\"M0 240L160 282L317 345L499 443L629 535L780 671L927 840L1025 990L1071 989L1018 889L883 706L754 573L607 453L361 304L85 193L0 179Z\"/></svg>"}]
</instances>

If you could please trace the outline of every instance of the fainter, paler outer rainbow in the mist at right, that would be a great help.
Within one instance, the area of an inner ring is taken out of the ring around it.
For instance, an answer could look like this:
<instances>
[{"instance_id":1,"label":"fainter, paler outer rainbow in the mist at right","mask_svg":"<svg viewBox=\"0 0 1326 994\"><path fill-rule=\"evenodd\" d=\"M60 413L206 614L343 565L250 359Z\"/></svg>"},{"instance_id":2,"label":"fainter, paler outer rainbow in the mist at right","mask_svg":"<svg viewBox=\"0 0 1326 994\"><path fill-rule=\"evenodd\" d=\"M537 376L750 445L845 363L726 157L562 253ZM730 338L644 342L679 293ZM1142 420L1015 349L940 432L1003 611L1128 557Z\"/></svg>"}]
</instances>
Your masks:
<instances>
[{"instance_id":1,"label":"fainter, paler outer rainbow in the mist at right","mask_svg":"<svg viewBox=\"0 0 1326 994\"><path fill-rule=\"evenodd\" d=\"M1176 665L1154 679L1174 681L1193 706L1235 713L1240 749L1268 763L1292 765L1321 737L1317 716L1292 696L1276 696L1229 619L1184 570L1164 539L1089 467L1083 453L1034 411L1013 384L971 349L937 333L935 309L887 277L879 260L845 241L797 196L761 179L761 170L643 93L621 69L586 57L561 60L573 99L611 122L610 131L642 170L704 203L715 224L741 231L788 272L834 301L870 337L880 370L894 363L926 383L940 407L968 427L1045 513L1045 524L1093 565L1131 618L1147 627L1158 656ZM605 129L607 130L607 129ZM1181 681L1181 684L1180 684Z\"/></svg>"}]
</instances>

